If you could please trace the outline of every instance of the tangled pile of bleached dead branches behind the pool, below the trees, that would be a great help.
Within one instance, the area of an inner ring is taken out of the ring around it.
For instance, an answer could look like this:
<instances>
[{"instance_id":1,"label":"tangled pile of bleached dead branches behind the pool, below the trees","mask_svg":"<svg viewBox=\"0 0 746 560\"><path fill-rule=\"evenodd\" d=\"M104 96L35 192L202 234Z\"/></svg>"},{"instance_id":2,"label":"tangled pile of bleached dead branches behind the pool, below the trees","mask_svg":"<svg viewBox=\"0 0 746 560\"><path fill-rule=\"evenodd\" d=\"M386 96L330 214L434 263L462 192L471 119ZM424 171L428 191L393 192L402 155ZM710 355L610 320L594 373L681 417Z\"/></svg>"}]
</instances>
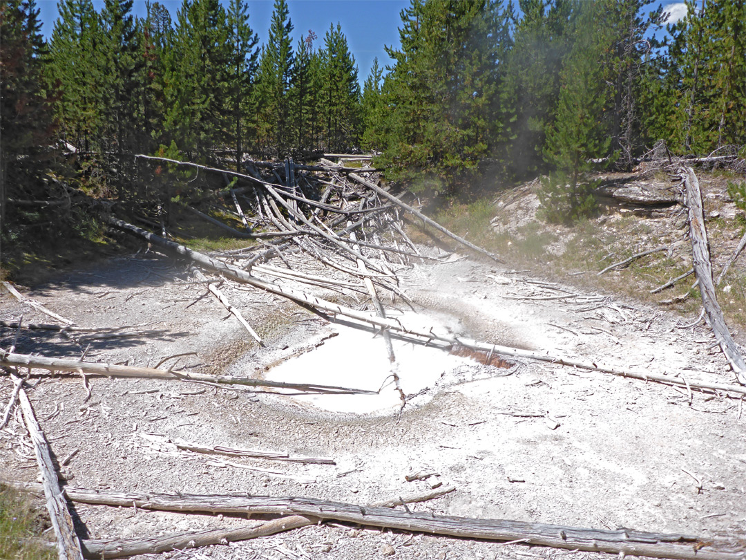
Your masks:
<instances>
[{"instance_id":1,"label":"tangled pile of bleached dead branches behind the pool, below the trees","mask_svg":"<svg viewBox=\"0 0 746 560\"><path fill-rule=\"evenodd\" d=\"M302 165L289 159L280 163L247 162L243 166L245 172L234 172L168 158L147 155L137 155L137 158L157 165L191 167L198 172L222 175L227 186L216 191L213 200L220 201L220 211L240 220L242 229L233 228L190 205L182 204L181 208L222 228L232 237L257 241L245 249L222 254L240 270L267 273L268 269L262 268L263 263L272 258L285 261L287 255L302 252L325 267L355 279L371 281L392 298L406 299L398 290L394 270L409 267L413 260L432 260L433 257L422 255L405 233L405 225L411 223L405 214L475 252L498 260L379 187L379 173L372 167L345 167L325 158L320 164ZM369 157L360 158L366 159ZM155 223L144 217L137 219L160 227L162 237L169 237L163 220ZM350 285L349 281L340 284L310 275L293 276L312 284Z\"/></svg>"}]
</instances>

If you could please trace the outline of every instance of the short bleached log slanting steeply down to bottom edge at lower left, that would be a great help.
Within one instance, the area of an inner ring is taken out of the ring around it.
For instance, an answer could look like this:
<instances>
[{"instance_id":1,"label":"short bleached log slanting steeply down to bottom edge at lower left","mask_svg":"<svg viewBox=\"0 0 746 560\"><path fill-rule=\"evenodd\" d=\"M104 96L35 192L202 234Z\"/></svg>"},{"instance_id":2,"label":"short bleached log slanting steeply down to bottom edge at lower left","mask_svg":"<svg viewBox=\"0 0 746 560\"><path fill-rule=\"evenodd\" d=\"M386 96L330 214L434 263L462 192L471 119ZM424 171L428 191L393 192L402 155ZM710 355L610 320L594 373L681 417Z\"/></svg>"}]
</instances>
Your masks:
<instances>
[{"instance_id":1,"label":"short bleached log slanting steeply down to bottom edge at lower left","mask_svg":"<svg viewBox=\"0 0 746 560\"><path fill-rule=\"evenodd\" d=\"M37 455L46 506L49 511L51 526L54 528L54 535L57 537L58 556L60 560L82 560L81 543L78 541L78 535L75 534L72 516L67 509L62 491L60 491L60 481L57 480L57 473L54 470L54 463L51 461L46 438L44 438L42 429L34 416L34 408L31 406L23 388L20 389L18 398L26 428L34 444L34 452Z\"/></svg>"}]
</instances>

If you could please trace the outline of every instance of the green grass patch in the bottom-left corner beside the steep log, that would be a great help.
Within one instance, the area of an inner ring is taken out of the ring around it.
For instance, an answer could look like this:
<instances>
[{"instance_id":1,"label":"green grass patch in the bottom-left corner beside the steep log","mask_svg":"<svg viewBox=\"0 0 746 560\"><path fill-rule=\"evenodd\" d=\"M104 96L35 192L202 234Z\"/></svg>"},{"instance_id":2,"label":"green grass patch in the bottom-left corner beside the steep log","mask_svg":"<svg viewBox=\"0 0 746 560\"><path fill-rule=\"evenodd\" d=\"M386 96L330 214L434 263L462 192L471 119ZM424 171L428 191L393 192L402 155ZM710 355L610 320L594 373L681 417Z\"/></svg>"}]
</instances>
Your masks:
<instances>
[{"instance_id":1,"label":"green grass patch in the bottom-left corner beside the steep log","mask_svg":"<svg viewBox=\"0 0 746 560\"><path fill-rule=\"evenodd\" d=\"M50 549L34 541L48 526L45 514L34 508L30 498L0 486L0 559L57 558L56 548Z\"/></svg>"}]
</instances>

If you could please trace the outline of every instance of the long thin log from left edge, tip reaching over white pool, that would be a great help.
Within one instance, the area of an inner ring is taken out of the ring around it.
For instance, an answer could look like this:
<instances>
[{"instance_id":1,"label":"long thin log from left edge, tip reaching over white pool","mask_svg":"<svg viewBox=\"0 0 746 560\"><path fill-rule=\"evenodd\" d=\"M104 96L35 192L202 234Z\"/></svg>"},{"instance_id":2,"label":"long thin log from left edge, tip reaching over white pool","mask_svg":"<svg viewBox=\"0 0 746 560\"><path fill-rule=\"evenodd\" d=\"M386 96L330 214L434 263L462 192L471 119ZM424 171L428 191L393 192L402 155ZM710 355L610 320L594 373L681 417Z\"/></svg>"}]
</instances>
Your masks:
<instances>
[{"instance_id":1,"label":"long thin log from left edge, tip reaching over white pool","mask_svg":"<svg viewBox=\"0 0 746 560\"><path fill-rule=\"evenodd\" d=\"M270 387L278 389L292 389L294 391L305 391L309 393L375 393L365 389L351 389L345 387L334 387L332 385L316 385L313 383L283 383L266 381L264 379L251 379L248 377L235 376L210 376L206 373L197 373L184 370L158 370L154 367L134 367L108 364L106 362L91 362L73 360L69 358L46 358L28 354L11 354L0 349L0 366L5 367L28 367L50 372L85 373L86 375L104 377L127 377L140 379L168 379L169 381L200 381L217 383L219 385L246 385L248 387Z\"/></svg>"}]
</instances>

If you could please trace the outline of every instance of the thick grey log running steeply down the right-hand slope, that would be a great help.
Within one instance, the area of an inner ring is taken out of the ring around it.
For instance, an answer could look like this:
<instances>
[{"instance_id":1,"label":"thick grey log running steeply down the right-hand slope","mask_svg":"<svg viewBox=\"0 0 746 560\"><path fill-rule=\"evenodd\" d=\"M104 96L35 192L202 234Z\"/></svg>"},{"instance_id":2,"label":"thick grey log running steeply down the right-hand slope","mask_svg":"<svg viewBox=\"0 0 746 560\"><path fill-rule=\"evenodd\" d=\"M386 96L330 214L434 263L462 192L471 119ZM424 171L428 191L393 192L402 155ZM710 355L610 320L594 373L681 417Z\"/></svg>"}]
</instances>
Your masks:
<instances>
[{"instance_id":1,"label":"thick grey log running steeply down the right-hand slope","mask_svg":"<svg viewBox=\"0 0 746 560\"><path fill-rule=\"evenodd\" d=\"M736 379L740 384L746 385L746 361L744 361L738 346L733 341L733 337L730 336L723 311L718 304L717 296L715 296L715 285L712 283L712 264L709 260L709 244L704 223L699 181L691 167L683 167L681 172L685 187L686 207L689 208L689 237L692 239L692 257L702 296L702 305L712 333L715 335L715 340L720 344L725 358L733 369L733 373L736 374Z\"/></svg>"}]
</instances>

